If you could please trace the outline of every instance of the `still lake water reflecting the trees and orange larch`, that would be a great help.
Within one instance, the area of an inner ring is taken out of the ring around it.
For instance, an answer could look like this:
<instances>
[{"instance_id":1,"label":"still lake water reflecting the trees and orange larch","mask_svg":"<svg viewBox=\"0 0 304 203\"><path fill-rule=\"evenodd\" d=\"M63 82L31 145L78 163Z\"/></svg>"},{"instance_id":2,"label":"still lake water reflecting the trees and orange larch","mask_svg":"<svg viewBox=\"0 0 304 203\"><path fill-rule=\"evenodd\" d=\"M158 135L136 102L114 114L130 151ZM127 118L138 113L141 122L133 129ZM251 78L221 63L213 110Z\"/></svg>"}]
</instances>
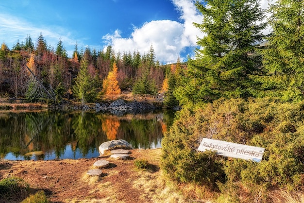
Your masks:
<instances>
[{"instance_id":1,"label":"still lake water reflecting the trees and orange larch","mask_svg":"<svg viewBox=\"0 0 304 203\"><path fill-rule=\"evenodd\" d=\"M174 112L116 116L90 111L0 111L0 158L78 159L99 156L101 143L124 139L134 149L161 147Z\"/></svg>"}]
</instances>

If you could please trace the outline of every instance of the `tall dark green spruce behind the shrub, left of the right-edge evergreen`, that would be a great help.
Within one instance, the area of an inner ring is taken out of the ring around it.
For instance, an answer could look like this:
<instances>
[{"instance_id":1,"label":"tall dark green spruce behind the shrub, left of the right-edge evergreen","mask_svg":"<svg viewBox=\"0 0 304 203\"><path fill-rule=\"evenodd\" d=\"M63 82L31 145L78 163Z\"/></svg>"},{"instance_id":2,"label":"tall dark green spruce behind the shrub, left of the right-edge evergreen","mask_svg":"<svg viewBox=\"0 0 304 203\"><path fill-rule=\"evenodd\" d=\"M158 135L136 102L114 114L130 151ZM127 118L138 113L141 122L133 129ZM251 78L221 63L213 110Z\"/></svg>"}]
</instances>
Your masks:
<instances>
[{"instance_id":1,"label":"tall dark green spruce behind the shrub, left of the right-edge evergreen","mask_svg":"<svg viewBox=\"0 0 304 203\"><path fill-rule=\"evenodd\" d=\"M206 35L199 38L198 60L189 60L186 88L177 98L210 101L219 96L249 97L256 88L252 75L261 73L260 57L253 52L264 39L265 15L255 0L210 0L196 3L203 23L194 23ZM220 93L220 94L219 94Z\"/></svg>"}]
</instances>

